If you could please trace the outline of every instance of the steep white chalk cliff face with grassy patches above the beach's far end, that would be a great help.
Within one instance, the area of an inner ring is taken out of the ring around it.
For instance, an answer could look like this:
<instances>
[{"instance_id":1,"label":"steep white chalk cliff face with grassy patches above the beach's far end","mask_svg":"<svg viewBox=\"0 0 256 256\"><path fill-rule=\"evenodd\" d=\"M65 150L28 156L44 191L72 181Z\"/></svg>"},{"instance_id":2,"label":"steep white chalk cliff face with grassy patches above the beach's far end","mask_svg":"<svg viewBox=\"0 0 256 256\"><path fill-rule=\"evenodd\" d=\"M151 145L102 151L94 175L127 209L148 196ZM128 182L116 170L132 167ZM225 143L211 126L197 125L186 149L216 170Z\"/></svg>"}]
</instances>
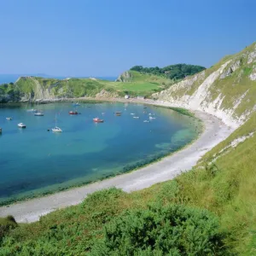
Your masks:
<instances>
[{"instance_id":1,"label":"steep white chalk cliff face with grassy patches above the beach's far end","mask_svg":"<svg viewBox=\"0 0 256 256\"><path fill-rule=\"evenodd\" d=\"M238 127L256 110L256 44L153 97L174 106L199 109Z\"/></svg>"}]
</instances>

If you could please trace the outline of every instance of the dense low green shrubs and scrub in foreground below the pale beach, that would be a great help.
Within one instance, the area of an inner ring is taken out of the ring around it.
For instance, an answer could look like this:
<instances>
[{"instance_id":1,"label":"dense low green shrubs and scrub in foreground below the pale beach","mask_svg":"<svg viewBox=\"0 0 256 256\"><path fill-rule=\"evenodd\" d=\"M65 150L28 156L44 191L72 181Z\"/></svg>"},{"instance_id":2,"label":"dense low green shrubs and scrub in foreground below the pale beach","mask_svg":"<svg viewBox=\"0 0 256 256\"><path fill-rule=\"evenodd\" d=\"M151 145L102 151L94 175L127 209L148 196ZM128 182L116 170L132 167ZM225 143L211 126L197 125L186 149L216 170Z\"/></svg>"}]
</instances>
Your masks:
<instances>
[{"instance_id":1,"label":"dense low green shrubs and scrub in foreground below the pale beach","mask_svg":"<svg viewBox=\"0 0 256 256\"><path fill-rule=\"evenodd\" d=\"M166 189L174 194L176 186L172 182ZM162 191L150 200L143 194L106 189L35 224L19 224L4 233L0 254L224 255L225 235L212 213L164 207L170 194Z\"/></svg>"}]
</instances>

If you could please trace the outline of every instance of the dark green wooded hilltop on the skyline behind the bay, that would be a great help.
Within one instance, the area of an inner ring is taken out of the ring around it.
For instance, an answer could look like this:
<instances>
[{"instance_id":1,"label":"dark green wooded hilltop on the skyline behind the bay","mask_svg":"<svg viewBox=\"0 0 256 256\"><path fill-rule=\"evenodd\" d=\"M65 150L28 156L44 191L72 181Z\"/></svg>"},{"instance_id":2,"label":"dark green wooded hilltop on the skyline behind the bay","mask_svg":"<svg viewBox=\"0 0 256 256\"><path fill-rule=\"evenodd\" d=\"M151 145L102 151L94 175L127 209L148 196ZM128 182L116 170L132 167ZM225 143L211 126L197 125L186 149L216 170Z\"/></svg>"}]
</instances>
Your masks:
<instances>
[{"instance_id":1,"label":"dark green wooded hilltop on the skyline behind the bay","mask_svg":"<svg viewBox=\"0 0 256 256\"><path fill-rule=\"evenodd\" d=\"M176 64L166 67L143 67L135 66L131 67L132 71L137 71L139 73L150 73L158 76L164 76L168 79L183 79L186 76L194 75L206 69L206 67L188 65L188 64Z\"/></svg>"}]
</instances>

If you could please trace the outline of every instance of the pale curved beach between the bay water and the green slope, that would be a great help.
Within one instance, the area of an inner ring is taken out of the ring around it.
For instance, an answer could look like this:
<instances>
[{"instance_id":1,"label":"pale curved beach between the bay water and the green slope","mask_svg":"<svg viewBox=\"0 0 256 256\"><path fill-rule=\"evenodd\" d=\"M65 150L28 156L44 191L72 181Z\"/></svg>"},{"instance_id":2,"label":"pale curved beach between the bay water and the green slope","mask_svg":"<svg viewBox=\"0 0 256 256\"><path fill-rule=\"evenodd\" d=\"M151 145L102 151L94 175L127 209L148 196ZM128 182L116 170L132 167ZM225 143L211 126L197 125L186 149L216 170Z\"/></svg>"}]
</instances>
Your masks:
<instances>
[{"instance_id":1,"label":"pale curved beach between the bay water and the green slope","mask_svg":"<svg viewBox=\"0 0 256 256\"><path fill-rule=\"evenodd\" d=\"M166 104L163 105L166 106ZM7 207L0 207L0 217L11 214L18 222L33 222L37 221L40 216L55 211L55 209L79 204L86 195L96 190L117 187L131 192L148 188L154 183L164 182L176 177L181 172L188 171L192 166L195 166L197 160L203 154L234 131L234 129L224 125L220 119L212 115L199 111L195 111L195 115L204 122L205 130L195 143L192 143L183 150L135 172L129 172L54 195L19 202Z\"/></svg>"}]
</instances>

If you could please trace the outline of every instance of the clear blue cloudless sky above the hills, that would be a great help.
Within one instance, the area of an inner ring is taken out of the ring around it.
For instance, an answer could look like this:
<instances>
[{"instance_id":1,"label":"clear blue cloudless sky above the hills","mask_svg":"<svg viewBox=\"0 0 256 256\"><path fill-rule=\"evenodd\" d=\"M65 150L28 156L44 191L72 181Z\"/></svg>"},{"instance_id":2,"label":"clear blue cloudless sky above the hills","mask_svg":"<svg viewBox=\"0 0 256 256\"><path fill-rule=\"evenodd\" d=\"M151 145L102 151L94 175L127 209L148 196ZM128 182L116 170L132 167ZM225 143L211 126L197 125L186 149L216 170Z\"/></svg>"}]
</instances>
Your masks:
<instances>
[{"instance_id":1,"label":"clear blue cloudless sky above the hills","mask_svg":"<svg viewBox=\"0 0 256 256\"><path fill-rule=\"evenodd\" d=\"M0 0L0 74L211 67L256 40L255 0Z\"/></svg>"}]
</instances>

